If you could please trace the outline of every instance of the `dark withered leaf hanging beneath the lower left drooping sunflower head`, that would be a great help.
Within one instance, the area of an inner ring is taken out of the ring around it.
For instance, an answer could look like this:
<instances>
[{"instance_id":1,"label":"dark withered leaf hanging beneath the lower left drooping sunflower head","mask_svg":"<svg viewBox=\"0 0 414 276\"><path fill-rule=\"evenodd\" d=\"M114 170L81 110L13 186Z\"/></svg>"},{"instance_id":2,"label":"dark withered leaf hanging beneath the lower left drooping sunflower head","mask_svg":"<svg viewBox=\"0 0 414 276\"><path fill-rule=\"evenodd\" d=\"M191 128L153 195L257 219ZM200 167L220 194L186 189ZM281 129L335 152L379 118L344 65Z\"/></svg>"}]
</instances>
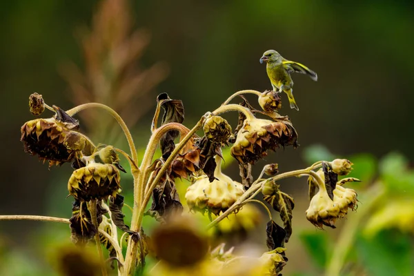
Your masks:
<instances>
[{"instance_id":1,"label":"dark withered leaf hanging beneath the lower left drooping sunflower head","mask_svg":"<svg viewBox=\"0 0 414 276\"><path fill-rule=\"evenodd\" d=\"M97 221L98 225L102 221L102 215L108 212L102 208L101 203L97 205ZM74 244L86 244L88 240L93 239L97 233L97 228L92 224L90 212L87 204L76 200L72 203L72 217L70 221L70 240Z\"/></svg>"}]
</instances>

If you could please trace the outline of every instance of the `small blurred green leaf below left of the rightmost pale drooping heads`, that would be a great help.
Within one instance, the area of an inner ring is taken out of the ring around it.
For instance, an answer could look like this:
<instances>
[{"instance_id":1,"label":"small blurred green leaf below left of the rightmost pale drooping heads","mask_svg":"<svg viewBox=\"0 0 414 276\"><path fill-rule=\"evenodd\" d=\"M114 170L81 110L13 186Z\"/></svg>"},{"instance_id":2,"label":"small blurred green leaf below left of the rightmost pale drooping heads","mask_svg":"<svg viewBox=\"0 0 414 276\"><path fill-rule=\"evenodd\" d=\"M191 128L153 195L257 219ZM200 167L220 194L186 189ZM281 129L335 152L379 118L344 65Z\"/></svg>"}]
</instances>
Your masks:
<instances>
[{"instance_id":1,"label":"small blurred green leaf below left of the rightmost pale drooping heads","mask_svg":"<svg viewBox=\"0 0 414 276\"><path fill-rule=\"evenodd\" d=\"M319 268L324 268L328 259L328 245L330 244L328 235L320 231L302 232L299 237L304 244L308 255L313 259L313 262Z\"/></svg>"}]
</instances>

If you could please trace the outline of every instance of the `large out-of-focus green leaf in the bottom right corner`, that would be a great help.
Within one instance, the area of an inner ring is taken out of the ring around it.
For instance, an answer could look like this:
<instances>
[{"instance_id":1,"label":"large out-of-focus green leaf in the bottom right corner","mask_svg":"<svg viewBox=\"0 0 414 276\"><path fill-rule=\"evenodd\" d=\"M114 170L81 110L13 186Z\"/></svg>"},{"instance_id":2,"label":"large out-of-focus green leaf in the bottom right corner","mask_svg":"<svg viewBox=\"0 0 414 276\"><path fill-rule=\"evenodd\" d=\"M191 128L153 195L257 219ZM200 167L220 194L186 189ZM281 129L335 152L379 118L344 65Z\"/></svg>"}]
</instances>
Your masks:
<instances>
[{"instance_id":1,"label":"large out-of-focus green leaf in the bottom right corner","mask_svg":"<svg viewBox=\"0 0 414 276\"><path fill-rule=\"evenodd\" d=\"M373 239L359 235L357 252L368 275L414 275L414 254L409 235L393 230L382 231Z\"/></svg>"}]
</instances>

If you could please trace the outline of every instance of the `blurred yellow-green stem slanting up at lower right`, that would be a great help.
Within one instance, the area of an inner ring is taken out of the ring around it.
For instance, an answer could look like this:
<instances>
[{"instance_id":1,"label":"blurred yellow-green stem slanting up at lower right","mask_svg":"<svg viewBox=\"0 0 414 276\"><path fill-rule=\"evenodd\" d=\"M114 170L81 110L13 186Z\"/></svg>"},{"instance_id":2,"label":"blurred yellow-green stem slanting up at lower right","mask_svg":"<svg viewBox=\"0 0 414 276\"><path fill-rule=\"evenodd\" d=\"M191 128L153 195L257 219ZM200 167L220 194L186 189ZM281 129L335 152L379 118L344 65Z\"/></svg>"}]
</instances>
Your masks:
<instances>
[{"instance_id":1,"label":"blurred yellow-green stem slanting up at lower right","mask_svg":"<svg viewBox=\"0 0 414 276\"><path fill-rule=\"evenodd\" d=\"M358 210L353 219L348 219L348 222L339 234L339 239L334 247L335 250L326 266L326 276L339 276L346 256L355 241L355 235L360 230L358 228L359 224L362 223L365 215L371 212L373 206L376 206L379 201L382 201L382 197L385 195L385 190L382 187L373 186L373 188L368 190L366 194L369 195L369 201L364 204L362 210Z\"/></svg>"}]
</instances>

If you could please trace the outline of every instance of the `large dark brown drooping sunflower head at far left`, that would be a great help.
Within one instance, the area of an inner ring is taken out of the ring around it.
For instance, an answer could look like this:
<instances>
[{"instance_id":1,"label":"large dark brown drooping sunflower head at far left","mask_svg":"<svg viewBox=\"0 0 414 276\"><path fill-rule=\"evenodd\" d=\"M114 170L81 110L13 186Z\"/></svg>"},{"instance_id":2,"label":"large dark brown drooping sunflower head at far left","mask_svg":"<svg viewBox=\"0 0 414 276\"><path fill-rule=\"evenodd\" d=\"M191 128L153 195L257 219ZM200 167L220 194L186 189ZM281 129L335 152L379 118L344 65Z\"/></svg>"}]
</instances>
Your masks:
<instances>
[{"instance_id":1,"label":"large dark brown drooping sunflower head at far left","mask_svg":"<svg viewBox=\"0 0 414 276\"><path fill-rule=\"evenodd\" d=\"M87 139L77 132L78 122L60 108L48 119L34 119L21 126L21 141L30 155L49 161L49 166L70 162L75 153L83 150Z\"/></svg>"}]
</instances>

